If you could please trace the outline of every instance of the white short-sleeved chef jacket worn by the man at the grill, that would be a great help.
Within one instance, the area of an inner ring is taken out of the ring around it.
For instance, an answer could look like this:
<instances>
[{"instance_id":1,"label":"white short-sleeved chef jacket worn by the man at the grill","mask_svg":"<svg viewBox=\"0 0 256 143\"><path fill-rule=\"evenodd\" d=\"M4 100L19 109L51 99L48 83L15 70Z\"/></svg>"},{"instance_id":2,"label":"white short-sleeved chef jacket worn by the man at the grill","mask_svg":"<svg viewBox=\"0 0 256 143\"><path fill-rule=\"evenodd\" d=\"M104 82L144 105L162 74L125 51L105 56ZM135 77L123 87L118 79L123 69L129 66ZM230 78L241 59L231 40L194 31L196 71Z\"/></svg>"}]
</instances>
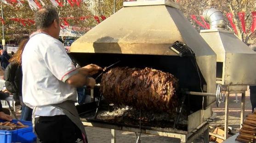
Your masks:
<instances>
[{"instance_id":1,"label":"white short-sleeved chef jacket worn by the man at the grill","mask_svg":"<svg viewBox=\"0 0 256 143\"><path fill-rule=\"evenodd\" d=\"M65 80L76 74L63 44L46 33L30 37L22 55L23 102L36 116L64 115L52 104L75 101L76 88Z\"/></svg>"}]
</instances>

